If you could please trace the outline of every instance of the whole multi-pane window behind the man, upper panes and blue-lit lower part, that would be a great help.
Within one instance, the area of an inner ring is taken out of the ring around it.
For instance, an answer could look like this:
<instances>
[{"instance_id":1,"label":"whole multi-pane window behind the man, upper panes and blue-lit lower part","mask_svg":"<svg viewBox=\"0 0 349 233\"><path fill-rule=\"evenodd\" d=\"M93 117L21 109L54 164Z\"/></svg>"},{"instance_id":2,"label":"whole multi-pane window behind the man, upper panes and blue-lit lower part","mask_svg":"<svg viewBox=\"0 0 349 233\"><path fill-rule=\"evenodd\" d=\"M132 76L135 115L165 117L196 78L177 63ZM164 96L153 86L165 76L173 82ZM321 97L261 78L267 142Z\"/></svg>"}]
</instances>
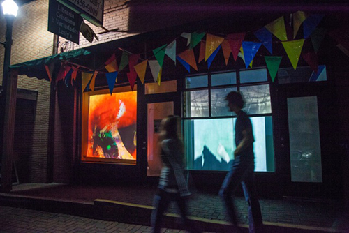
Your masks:
<instances>
[{"instance_id":1,"label":"whole multi-pane window behind the man, upper panes and blue-lit lower part","mask_svg":"<svg viewBox=\"0 0 349 233\"><path fill-rule=\"evenodd\" d=\"M235 150L236 115L225 96L241 91L255 137L255 171L274 172L272 106L266 69L188 76L183 119L188 170L229 170Z\"/></svg>"}]
</instances>

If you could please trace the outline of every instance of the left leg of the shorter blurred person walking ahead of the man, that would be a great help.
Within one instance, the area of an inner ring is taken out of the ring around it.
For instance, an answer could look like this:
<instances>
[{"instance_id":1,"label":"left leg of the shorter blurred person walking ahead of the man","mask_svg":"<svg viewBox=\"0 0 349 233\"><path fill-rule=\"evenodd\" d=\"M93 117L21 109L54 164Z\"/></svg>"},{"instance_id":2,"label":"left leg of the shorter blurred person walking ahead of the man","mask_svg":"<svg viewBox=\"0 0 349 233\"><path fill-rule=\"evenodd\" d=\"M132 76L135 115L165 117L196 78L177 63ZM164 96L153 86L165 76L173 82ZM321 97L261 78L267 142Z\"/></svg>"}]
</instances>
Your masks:
<instances>
[{"instance_id":1,"label":"left leg of the shorter blurred person walking ahead of the man","mask_svg":"<svg viewBox=\"0 0 349 233\"><path fill-rule=\"evenodd\" d=\"M151 213L151 232L160 233L163 212L168 208L169 203L170 200L165 192L155 195L153 204L154 209Z\"/></svg>"}]
</instances>

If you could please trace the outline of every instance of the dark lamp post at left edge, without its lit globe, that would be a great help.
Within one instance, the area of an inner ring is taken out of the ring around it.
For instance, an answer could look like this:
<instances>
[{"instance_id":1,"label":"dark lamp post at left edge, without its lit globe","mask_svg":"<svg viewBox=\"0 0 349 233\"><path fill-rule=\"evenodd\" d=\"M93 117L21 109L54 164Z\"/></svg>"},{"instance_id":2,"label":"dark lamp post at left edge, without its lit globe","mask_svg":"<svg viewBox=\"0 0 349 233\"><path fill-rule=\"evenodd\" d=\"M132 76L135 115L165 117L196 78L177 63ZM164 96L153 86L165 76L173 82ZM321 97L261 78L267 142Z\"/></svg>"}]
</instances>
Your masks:
<instances>
[{"instance_id":1,"label":"dark lamp post at left edge, without its lit globe","mask_svg":"<svg viewBox=\"0 0 349 233\"><path fill-rule=\"evenodd\" d=\"M9 66L11 60L11 46L12 46L12 29L13 21L15 17L12 15L5 15L6 18L6 42L5 42L5 57L3 59L3 80L2 80L2 91L1 91L1 191L10 192L12 189L12 163L13 163L13 140L8 140L8 137L13 137L9 121L11 119L10 110L10 96L8 95L8 88L11 86L11 78L9 75ZM17 83L16 83L17 90ZM15 108L15 106L12 106ZM12 129L13 131L13 129ZM10 135L8 135L10 133ZM5 138L6 137L6 138Z\"/></svg>"}]
</instances>

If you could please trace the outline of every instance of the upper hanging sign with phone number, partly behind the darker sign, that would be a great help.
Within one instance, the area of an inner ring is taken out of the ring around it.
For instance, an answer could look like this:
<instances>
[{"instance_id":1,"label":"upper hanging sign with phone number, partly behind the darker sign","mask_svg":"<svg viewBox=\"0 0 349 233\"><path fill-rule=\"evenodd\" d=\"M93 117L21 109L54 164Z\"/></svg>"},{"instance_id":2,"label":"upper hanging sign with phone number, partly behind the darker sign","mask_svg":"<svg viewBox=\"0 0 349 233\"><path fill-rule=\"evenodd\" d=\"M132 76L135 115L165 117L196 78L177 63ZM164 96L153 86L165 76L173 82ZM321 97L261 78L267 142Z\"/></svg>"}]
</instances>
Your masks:
<instances>
[{"instance_id":1,"label":"upper hanging sign with phone number, partly behind the darker sign","mask_svg":"<svg viewBox=\"0 0 349 233\"><path fill-rule=\"evenodd\" d=\"M57 0L80 14L85 20L103 26L104 0Z\"/></svg>"}]
</instances>

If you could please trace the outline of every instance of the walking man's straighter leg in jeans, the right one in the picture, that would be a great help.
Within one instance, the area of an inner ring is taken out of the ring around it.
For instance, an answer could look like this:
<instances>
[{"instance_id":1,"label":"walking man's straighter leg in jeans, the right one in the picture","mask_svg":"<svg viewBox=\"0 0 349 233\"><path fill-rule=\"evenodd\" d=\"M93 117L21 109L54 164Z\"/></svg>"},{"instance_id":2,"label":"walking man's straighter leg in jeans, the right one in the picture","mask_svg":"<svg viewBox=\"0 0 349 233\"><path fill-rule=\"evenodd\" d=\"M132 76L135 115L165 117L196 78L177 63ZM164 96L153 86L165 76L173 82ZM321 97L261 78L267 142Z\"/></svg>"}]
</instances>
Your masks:
<instances>
[{"instance_id":1,"label":"walking man's straighter leg in jeans, the right one in the picture","mask_svg":"<svg viewBox=\"0 0 349 233\"><path fill-rule=\"evenodd\" d=\"M244 177L242 188L244 190L246 202L248 202L249 232L259 233L262 232L263 221L258 195L255 190L255 181L253 177L254 165L251 165L248 170L249 174Z\"/></svg>"}]
</instances>

